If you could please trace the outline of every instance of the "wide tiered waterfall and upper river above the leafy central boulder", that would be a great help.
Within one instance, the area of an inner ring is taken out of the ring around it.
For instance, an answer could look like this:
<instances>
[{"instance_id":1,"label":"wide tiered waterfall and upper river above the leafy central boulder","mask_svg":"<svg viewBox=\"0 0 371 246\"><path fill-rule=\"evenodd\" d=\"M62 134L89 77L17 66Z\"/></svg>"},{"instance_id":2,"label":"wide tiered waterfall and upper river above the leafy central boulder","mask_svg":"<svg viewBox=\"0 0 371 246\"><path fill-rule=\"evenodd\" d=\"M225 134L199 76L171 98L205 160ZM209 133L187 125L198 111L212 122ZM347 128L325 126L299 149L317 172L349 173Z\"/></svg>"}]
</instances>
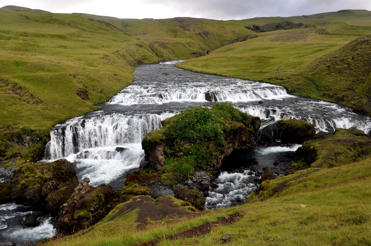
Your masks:
<instances>
[{"instance_id":1,"label":"wide tiered waterfall and upper river above the leafy central boulder","mask_svg":"<svg viewBox=\"0 0 371 246\"><path fill-rule=\"evenodd\" d=\"M333 132L352 126L369 132L371 118L319 100L290 96L281 86L178 69L180 61L142 65L135 81L121 90L102 110L55 125L44 159L73 162L79 179L124 185L128 170L144 157L142 137L160 129L161 120L192 106L230 102L243 112L259 116L262 128L281 119L302 119L317 131ZM261 102L260 102L261 101ZM288 150L292 151L292 150Z\"/></svg>"}]
</instances>

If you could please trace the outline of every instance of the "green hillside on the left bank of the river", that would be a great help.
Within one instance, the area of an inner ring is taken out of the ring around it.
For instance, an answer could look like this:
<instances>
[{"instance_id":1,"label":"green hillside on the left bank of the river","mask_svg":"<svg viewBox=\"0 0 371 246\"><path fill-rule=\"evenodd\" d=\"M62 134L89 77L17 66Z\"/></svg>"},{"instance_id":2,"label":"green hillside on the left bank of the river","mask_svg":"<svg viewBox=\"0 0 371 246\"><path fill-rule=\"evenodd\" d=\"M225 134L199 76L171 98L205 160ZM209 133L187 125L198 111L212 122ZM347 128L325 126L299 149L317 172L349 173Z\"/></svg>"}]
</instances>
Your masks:
<instances>
[{"instance_id":1,"label":"green hillside on the left bank of the river","mask_svg":"<svg viewBox=\"0 0 371 246\"><path fill-rule=\"evenodd\" d=\"M98 109L95 103L131 84L138 64L195 57L251 32L194 18L19 9L0 9L0 16L0 125L37 130Z\"/></svg>"}]
</instances>

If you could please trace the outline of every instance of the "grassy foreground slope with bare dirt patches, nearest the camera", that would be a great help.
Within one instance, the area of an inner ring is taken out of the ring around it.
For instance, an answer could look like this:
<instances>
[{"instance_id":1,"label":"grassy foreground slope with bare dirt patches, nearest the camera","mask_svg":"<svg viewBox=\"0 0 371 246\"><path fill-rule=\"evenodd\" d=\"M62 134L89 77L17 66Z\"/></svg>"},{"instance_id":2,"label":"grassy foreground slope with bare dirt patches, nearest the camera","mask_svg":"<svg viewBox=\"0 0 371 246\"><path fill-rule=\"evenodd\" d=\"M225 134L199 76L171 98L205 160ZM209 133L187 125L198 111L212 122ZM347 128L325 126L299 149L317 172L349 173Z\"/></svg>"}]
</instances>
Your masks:
<instances>
[{"instance_id":1,"label":"grassy foreground slope with bare dirt patches, nearest the camera","mask_svg":"<svg viewBox=\"0 0 371 246\"><path fill-rule=\"evenodd\" d=\"M91 229L47 245L136 245L155 238L160 238L157 245L220 245L224 233L232 235L228 245L250 241L259 245L370 245L370 168L371 158L331 169L306 169L264 182L262 195L242 206L202 212L171 223L153 222L143 229L135 229L133 221L138 215L133 212L111 221L104 219ZM273 195L276 186L295 177L299 179ZM236 213L243 215L242 219L233 225L215 226L206 235L161 240Z\"/></svg>"}]
</instances>

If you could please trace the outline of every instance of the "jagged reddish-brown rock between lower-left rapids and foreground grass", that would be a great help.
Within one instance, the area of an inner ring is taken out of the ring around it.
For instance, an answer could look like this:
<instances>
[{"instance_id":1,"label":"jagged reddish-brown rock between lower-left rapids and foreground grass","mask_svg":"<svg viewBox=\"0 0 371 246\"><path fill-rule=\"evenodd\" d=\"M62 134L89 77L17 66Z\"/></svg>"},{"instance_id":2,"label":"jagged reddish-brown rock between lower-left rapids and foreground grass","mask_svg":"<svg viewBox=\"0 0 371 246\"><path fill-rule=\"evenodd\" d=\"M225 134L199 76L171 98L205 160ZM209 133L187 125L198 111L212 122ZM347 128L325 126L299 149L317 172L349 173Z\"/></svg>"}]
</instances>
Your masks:
<instances>
[{"instance_id":1,"label":"jagged reddish-brown rock between lower-left rapids and foreground grass","mask_svg":"<svg viewBox=\"0 0 371 246\"><path fill-rule=\"evenodd\" d=\"M57 222L58 232L64 235L88 228L103 219L118 203L132 196L121 196L110 185L89 186L85 178L75 188L70 199L63 204Z\"/></svg>"}]
</instances>

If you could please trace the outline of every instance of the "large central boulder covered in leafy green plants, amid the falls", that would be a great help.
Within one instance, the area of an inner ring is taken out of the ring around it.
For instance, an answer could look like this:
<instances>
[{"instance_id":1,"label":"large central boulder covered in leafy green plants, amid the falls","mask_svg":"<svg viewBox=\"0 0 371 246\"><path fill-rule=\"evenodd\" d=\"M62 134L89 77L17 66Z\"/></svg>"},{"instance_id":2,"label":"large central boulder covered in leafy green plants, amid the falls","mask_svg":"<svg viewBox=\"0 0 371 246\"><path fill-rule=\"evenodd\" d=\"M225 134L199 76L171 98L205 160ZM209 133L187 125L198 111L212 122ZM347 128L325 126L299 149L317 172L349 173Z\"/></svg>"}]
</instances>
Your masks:
<instances>
[{"instance_id":1,"label":"large central boulder covered in leafy green plants, amid the falls","mask_svg":"<svg viewBox=\"0 0 371 246\"><path fill-rule=\"evenodd\" d=\"M233 149L253 147L260 127L259 117L227 103L187 109L161 123L162 129L144 136L142 147L149 166L161 170L168 185L183 182L194 170L219 169Z\"/></svg>"}]
</instances>

